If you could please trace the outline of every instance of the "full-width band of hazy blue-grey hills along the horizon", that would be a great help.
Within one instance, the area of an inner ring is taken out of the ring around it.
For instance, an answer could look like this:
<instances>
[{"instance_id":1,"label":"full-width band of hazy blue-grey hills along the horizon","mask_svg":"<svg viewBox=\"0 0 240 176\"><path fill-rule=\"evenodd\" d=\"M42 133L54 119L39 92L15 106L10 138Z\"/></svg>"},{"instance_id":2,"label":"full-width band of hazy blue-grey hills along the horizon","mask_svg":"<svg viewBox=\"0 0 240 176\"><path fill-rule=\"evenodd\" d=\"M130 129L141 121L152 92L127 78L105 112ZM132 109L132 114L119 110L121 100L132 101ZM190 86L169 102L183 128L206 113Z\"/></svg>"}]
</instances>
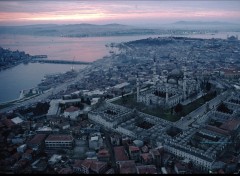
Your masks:
<instances>
[{"instance_id":1,"label":"full-width band of hazy blue-grey hills along the horizon","mask_svg":"<svg viewBox=\"0 0 240 176\"><path fill-rule=\"evenodd\" d=\"M229 25L227 25L229 24ZM239 31L240 25L227 22L202 22L202 21L178 21L172 24L157 24L158 27L149 25L136 27L117 23L96 24L37 24L25 26L0 26L0 34L51 36L51 37L104 37L104 36L132 36L132 35L159 35L182 34L183 31L199 32L203 30L213 31Z\"/></svg>"}]
</instances>

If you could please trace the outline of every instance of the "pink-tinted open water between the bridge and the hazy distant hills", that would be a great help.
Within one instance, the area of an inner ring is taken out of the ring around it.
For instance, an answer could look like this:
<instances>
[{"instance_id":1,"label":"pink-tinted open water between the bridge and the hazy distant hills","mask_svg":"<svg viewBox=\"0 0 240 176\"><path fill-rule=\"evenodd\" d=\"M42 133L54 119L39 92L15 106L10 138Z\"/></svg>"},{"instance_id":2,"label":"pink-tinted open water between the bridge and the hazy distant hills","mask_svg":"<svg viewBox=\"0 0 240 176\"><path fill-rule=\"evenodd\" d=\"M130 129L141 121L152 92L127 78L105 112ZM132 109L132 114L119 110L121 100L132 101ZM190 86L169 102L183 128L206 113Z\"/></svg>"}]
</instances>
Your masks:
<instances>
[{"instance_id":1,"label":"pink-tinted open water between the bridge and the hazy distant hills","mask_svg":"<svg viewBox=\"0 0 240 176\"><path fill-rule=\"evenodd\" d=\"M193 34L174 35L182 37L196 38L222 38L227 35L239 35L239 32L219 32L215 35ZM132 40L144 39L148 37L161 37L169 35L137 35L137 36L111 36L111 37L86 37L86 38L66 38L66 37L45 37L29 35L1 35L0 46L10 50L24 51L30 55L48 55L52 60L75 60L92 62L106 55L109 49L105 46L112 42L128 42Z\"/></svg>"}]
</instances>

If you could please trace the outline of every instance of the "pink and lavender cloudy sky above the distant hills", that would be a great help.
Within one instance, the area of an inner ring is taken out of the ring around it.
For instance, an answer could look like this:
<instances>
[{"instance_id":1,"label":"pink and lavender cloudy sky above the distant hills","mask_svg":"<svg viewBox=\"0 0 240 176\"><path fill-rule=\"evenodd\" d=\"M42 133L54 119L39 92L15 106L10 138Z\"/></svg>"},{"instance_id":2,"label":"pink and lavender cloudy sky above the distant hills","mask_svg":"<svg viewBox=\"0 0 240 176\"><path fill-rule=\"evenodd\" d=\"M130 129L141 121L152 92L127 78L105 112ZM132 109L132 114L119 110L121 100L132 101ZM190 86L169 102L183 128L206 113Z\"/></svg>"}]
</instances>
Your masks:
<instances>
[{"instance_id":1,"label":"pink and lavender cloudy sky above the distant hills","mask_svg":"<svg viewBox=\"0 0 240 176\"><path fill-rule=\"evenodd\" d=\"M0 0L0 25L240 23L239 0Z\"/></svg>"}]
</instances>

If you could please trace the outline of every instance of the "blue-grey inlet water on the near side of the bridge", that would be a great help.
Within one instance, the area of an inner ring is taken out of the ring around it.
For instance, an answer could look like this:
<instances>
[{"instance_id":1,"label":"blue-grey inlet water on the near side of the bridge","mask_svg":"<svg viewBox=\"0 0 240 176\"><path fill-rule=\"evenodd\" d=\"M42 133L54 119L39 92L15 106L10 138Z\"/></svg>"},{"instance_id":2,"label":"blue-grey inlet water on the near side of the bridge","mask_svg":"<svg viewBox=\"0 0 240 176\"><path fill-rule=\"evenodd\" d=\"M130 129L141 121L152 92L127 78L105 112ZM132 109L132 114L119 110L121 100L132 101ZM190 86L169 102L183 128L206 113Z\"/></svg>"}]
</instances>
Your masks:
<instances>
[{"instance_id":1,"label":"blue-grey inlet water on the near side of the bridge","mask_svg":"<svg viewBox=\"0 0 240 176\"><path fill-rule=\"evenodd\" d=\"M86 66L74 65L76 71ZM71 71L71 65L68 64L41 64L29 63L20 64L9 70L0 72L0 104L10 103L19 100L20 91L30 88L38 88L46 74L55 75ZM53 84L55 82L52 81Z\"/></svg>"}]
</instances>

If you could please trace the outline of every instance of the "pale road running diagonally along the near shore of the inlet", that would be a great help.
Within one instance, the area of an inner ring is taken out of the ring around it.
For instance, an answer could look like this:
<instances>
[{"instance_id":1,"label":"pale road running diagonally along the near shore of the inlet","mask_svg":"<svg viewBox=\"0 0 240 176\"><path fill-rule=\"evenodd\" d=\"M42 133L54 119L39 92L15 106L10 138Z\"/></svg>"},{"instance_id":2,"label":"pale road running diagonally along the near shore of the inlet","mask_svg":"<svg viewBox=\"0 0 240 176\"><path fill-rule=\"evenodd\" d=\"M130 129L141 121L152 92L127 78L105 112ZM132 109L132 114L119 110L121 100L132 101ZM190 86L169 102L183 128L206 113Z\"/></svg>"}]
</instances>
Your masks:
<instances>
[{"instance_id":1,"label":"pale road running diagonally along the near shore of the inlet","mask_svg":"<svg viewBox=\"0 0 240 176\"><path fill-rule=\"evenodd\" d=\"M62 90L67 90L67 87L70 84L76 83L79 80L81 80L85 76L86 72L88 72L89 68L90 68L90 66L85 67L84 69L79 71L78 76L76 78L69 80L63 84L60 84L54 88L51 88L47 92L44 92L43 94L40 94L39 96L33 97L33 98L25 100L23 102L16 103L12 106L9 106L9 107L3 108L3 109L0 109L0 113L12 111L12 110L18 108L19 106L29 106L33 103L36 103L36 102L39 102L42 100L46 100L50 95L55 95L55 94L58 94Z\"/></svg>"}]
</instances>

